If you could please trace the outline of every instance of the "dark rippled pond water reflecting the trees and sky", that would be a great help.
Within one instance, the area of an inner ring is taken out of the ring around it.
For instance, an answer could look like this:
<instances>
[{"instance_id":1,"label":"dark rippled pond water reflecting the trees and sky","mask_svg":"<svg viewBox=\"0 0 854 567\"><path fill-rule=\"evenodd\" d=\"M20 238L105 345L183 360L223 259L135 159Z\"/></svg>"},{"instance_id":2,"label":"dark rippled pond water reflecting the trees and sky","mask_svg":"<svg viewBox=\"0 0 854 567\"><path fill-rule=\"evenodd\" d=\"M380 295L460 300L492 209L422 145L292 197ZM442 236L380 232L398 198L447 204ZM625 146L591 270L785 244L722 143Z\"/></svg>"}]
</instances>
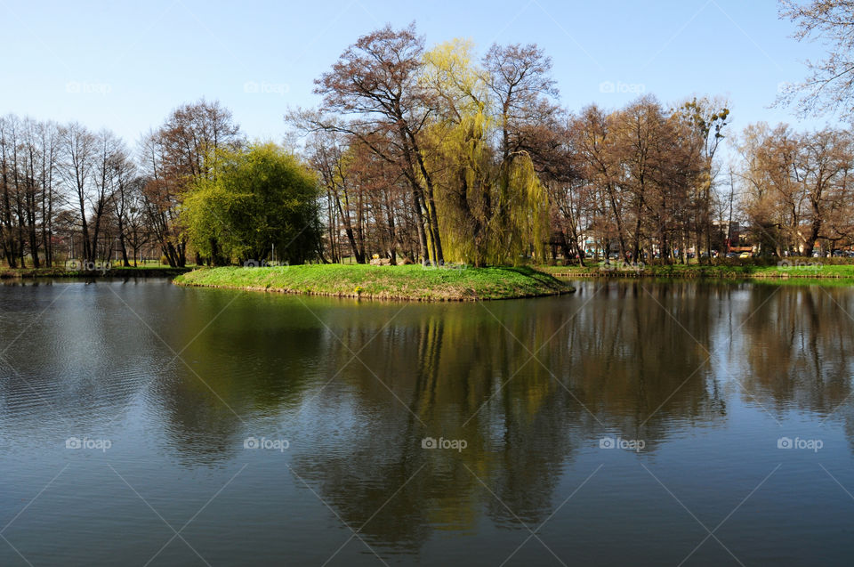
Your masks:
<instances>
[{"instance_id":1,"label":"dark rippled pond water reflecting the trees and sky","mask_svg":"<svg viewBox=\"0 0 854 567\"><path fill-rule=\"evenodd\" d=\"M850 565L854 289L577 285L0 287L0 565Z\"/></svg>"}]
</instances>

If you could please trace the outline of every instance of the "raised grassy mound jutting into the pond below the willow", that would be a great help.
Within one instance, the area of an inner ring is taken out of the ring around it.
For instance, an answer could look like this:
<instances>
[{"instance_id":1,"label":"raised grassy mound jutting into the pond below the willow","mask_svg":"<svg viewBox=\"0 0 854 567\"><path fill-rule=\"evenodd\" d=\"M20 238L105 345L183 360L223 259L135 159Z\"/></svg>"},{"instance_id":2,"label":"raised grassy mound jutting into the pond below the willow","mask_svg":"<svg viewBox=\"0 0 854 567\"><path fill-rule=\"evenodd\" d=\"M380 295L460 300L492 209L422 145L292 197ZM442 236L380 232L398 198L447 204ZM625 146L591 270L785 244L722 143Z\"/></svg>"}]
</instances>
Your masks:
<instances>
[{"instance_id":1,"label":"raised grassy mound jutting into the pond below the willow","mask_svg":"<svg viewBox=\"0 0 854 567\"><path fill-rule=\"evenodd\" d=\"M183 286L416 301L510 299L573 291L566 283L530 268L431 269L421 265L227 267L191 271L174 282Z\"/></svg>"}]
</instances>

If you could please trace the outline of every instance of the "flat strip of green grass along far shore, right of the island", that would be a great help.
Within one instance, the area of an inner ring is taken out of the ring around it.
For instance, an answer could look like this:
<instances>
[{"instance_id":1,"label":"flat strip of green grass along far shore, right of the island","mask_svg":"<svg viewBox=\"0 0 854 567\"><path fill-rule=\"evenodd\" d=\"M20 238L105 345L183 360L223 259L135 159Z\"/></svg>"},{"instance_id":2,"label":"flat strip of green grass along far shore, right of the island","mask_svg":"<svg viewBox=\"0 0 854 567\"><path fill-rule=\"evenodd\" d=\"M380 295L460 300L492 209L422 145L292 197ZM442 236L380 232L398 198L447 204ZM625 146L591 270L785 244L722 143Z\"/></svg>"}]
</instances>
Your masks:
<instances>
[{"instance_id":1,"label":"flat strip of green grass along far shore, right of the island","mask_svg":"<svg viewBox=\"0 0 854 567\"><path fill-rule=\"evenodd\" d=\"M588 263L586 266L542 266L557 278L722 278L722 279L810 279L812 281L851 279L854 264L822 263L821 259L792 259L771 265L760 263L725 263L716 265L632 265L628 263Z\"/></svg>"}]
</instances>

